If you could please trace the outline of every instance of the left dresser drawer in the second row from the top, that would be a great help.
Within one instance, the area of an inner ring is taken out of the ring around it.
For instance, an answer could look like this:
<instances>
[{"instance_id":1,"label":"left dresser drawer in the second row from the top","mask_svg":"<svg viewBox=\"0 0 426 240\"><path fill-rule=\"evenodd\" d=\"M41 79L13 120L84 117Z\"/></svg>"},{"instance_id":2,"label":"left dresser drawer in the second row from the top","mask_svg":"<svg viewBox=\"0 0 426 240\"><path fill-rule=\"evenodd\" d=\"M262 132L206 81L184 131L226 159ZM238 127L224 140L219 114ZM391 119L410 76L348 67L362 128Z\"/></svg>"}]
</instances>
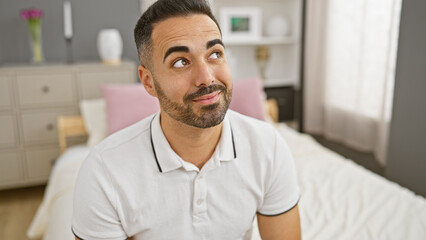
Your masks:
<instances>
[{"instance_id":1,"label":"left dresser drawer in the second row from the top","mask_svg":"<svg viewBox=\"0 0 426 240\"><path fill-rule=\"evenodd\" d=\"M56 110L53 112L23 112L21 118L24 142L56 142L58 140L58 116L73 114L76 114L76 111Z\"/></svg>"}]
</instances>

